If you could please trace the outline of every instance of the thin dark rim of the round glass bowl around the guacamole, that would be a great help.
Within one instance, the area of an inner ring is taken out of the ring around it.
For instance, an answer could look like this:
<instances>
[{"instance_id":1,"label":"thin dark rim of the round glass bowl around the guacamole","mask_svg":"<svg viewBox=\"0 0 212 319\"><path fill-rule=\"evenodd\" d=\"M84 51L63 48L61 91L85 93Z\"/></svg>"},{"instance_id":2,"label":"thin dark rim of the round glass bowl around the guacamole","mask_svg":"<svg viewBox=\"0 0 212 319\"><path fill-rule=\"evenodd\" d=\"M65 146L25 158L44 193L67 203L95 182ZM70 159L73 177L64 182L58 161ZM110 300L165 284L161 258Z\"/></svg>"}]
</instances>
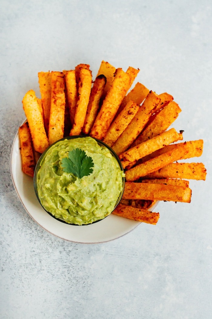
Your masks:
<instances>
[{"instance_id":1,"label":"thin dark rim of the round glass bowl around the guacamole","mask_svg":"<svg viewBox=\"0 0 212 319\"><path fill-rule=\"evenodd\" d=\"M46 156L46 154L49 152L49 150L50 150L51 148L53 148L54 145L57 144L58 142L60 142L60 141L65 141L65 140L72 140L72 139L76 139L76 138L82 138L82 137L85 138L86 136L81 136L81 135L68 136L68 137L61 138L60 140L58 140L58 141L56 141L55 143L53 143L52 145L50 145L50 146L44 151L44 153L40 156L40 158L38 159L37 165L36 165L36 167L35 167L34 178L33 178L35 193L36 193L36 196L37 196L37 198L38 198L38 201L39 201L39 203L41 204L41 206L43 207L43 209L44 209L49 215L51 215L51 217L57 219L58 221L63 222L63 223L68 224L68 225L75 225L75 226L91 225L91 224L96 223L96 222L99 222L100 220L105 219L107 216L109 216L109 215L114 211L114 209L117 207L117 205L120 203L121 198L122 198L123 193L124 193L124 187L125 187L125 177L122 177L122 191L121 191L121 193L120 193L120 195L119 195L119 197L118 197L118 199L117 199L117 201L116 201L116 203L115 203L115 206L114 206L113 210L112 210L108 215L106 215L105 217L99 218L98 220L95 220L95 221L93 221L93 222L91 222L91 223L86 223L86 224L81 224L81 225L69 223L69 222L65 221L64 219L62 219L62 218L57 218L57 217L53 216L53 215L51 214L51 212L47 211L47 210L44 208L44 206L42 205L41 200L40 200L40 198L39 198L39 195L38 195L38 184L37 184L38 171L39 171L39 169L40 169L40 167L41 167L41 165L42 165L42 160L44 159L44 157ZM124 169L123 169L123 167L122 167L121 161L120 161L118 155L113 151L113 149L112 149L110 146L108 146L107 144L105 144L104 142L102 142L102 141L100 141L100 140L98 140L98 139L96 139L96 138L93 138L93 139L98 143L99 146L104 146L104 147L106 147L106 148L109 150L109 152L111 153L111 155L113 156L113 158L115 158L116 161L118 162L118 165L119 165L119 167L120 167L120 170L121 170L122 173L124 174Z\"/></svg>"}]
</instances>

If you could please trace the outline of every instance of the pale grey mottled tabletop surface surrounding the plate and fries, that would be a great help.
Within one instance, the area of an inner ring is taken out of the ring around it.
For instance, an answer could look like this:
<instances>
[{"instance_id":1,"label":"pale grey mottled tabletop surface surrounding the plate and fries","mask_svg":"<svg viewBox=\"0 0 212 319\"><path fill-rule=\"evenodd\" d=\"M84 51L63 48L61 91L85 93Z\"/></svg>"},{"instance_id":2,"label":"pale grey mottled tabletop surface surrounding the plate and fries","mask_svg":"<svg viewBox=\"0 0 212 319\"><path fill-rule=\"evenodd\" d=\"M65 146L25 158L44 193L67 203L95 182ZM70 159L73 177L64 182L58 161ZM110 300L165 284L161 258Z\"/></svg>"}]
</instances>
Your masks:
<instances>
[{"instance_id":1,"label":"pale grey mottled tabletop surface surrounding the plate and fries","mask_svg":"<svg viewBox=\"0 0 212 319\"><path fill-rule=\"evenodd\" d=\"M0 318L211 318L212 3L0 1ZM38 71L102 60L140 68L137 81L174 96L174 127L204 139L207 180L192 202L160 203L157 226L102 244L66 242L38 226L10 177L10 150L38 95Z\"/></svg>"}]
</instances>

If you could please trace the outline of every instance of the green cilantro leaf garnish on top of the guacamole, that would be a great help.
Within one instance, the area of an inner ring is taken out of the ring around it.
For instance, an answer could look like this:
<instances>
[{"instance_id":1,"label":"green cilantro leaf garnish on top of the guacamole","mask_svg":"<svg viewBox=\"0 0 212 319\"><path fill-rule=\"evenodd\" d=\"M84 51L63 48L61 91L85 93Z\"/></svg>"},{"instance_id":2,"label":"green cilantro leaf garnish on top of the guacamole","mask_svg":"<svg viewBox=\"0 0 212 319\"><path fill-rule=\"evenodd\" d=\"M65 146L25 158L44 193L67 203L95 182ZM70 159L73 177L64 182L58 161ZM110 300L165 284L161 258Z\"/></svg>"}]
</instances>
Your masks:
<instances>
[{"instance_id":1,"label":"green cilantro leaf garnish on top of the guacamole","mask_svg":"<svg viewBox=\"0 0 212 319\"><path fill-rule=\"evenodd\" d=\"M68 157L62 159L63 171L72 173L79 178L93 173L93 160L87 156L85 151L76 148L68 153Z\"/></svg>"}]
</instances>

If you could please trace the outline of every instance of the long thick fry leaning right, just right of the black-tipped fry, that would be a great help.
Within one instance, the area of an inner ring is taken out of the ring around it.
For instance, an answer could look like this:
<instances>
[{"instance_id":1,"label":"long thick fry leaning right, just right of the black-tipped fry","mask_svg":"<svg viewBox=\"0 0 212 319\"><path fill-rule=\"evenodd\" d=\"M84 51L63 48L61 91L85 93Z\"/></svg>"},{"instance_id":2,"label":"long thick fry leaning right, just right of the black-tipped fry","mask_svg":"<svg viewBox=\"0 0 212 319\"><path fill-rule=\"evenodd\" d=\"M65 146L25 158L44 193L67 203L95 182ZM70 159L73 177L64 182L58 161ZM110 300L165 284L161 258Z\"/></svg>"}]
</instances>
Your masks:
<instances>
[{"instance_id":1,"label":"long thick fry leaning right, just right of the black-tipped fry","mask_svg":"<svg viewBox=\"0 0 212 319\"><path fill-rule=\"evenodd\" d=\"M121 68L116 69L113 83L92 126L90 136L103 139L129 86L129 76Z\"/></svg>"}]
</instances>

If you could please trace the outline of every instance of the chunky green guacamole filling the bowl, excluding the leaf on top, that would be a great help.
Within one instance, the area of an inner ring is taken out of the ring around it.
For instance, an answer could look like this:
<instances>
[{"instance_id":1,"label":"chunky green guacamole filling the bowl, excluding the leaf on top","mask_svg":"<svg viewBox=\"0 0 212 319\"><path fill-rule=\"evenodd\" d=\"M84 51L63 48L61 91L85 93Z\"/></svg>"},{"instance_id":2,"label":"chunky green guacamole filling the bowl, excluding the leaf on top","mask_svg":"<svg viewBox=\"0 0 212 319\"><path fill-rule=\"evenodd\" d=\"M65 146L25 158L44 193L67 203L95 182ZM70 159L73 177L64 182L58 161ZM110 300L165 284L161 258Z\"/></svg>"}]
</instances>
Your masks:
<instances>
[{"instance_id":1,"label":"chunky green guacamole filling the bowl, excluding the leaf on top","mask_svg":"<svg viewBox=\"0 0 212 319\"><path fill-rule=\"evenodd\" d=\"M92 157L93 173L78 178L63 171L62 159L76 148ZM44 209L67 223L90 224L109 215L123 189L124 173L117 159L92 137L64 139L44 154L36 175Z\"/></svg>"}]
</instances>

